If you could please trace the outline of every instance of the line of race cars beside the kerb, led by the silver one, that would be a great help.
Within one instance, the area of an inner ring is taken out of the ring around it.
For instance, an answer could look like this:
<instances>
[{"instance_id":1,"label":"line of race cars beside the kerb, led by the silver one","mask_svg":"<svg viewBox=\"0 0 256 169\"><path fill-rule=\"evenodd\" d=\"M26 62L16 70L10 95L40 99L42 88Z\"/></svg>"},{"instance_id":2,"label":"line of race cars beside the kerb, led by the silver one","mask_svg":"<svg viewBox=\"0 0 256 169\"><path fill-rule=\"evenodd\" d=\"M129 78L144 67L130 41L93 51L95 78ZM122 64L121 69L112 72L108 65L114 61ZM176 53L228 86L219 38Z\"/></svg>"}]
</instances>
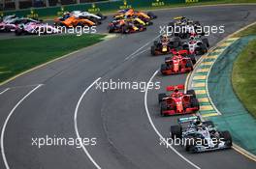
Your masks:
<instances>
[{"instance_id":1,"label":"line of race cars beside the kerb, led by the silver one","mask_svg":"<svg viewBox=\"0 0 256 169\"><path fill-rule=\"evenodd\" d=\"M208 52L208 39L204 33L198 33L199 21L193 21L184 16L176 17L169 23L173 29L178 25L183 32L172 35L161 35L151 46L151 55L169 55L161 65L163 75L186 73L193 70L196 56ZM158 94L161 116L194 114L200 110L199 100L194 90L184 90L184 85L168 86L170 94ZM184 126L184 124L188 124ZM199 153L232 147L232 137L229 131L219 131L211 121L203 122L200 116L178 118L178 125L170 130L173 139L183 140L182 146L189 153Z\"/></svg>"}]
</instances>

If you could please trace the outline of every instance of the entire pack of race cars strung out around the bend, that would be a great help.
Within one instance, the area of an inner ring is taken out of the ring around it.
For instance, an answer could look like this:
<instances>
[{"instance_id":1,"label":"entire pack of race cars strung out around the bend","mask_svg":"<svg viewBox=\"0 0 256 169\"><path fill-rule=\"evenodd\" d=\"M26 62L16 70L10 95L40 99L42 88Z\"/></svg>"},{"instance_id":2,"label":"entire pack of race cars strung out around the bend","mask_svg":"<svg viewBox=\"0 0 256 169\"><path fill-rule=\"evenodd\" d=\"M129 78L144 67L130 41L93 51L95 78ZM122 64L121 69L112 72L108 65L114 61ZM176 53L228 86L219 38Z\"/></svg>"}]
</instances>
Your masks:
<instances>
[{"instance_id":1,"label":"entire pack of race cars strung out around the bend","mask_svg":"<svg viewBox=\"0 0 256 169\"><path fill-rule=\"evenodd\" d=\"M106 18L107 16L103 14L74 11L55 18L54 25L90 27L101 24L102 20ZM145 14L134 9L127 9L118 11L112 18L112 22L108 25L109 33L130 34L146 30L146 26L152 25L152 20L157 16L152 13ZM192 71L197 63L196 57L208 52L208 39L204 33L197 32L198 26L200 26L199 21L178 16L169 23L169 29L175 30L176 26L183 31L171 35L161 35L150 48L153 56L169 55L160 67L160 72L163 75ZM16 15L5 16L0 22L0 31L15 32L16 35L37 34L39 31L42 32L40 29L44 29L43 32L46 31L46 34L48 34L48 29L51 29L53 33L59 31L53 25L46 25L42 21ZM194 90L180 92L184 90L184 85L168 86L166 90L171 93L158 95L161 116L192 114L200 110L199 100ZM188 125L184 127L184 124ZM184 139L183 146L190 153L232 147L232 137L229 131L219 131L211 121L203 122L199 116L178 118L178 124L171 127L170 134L172 138Z\"/></svg>"}]
</instances>

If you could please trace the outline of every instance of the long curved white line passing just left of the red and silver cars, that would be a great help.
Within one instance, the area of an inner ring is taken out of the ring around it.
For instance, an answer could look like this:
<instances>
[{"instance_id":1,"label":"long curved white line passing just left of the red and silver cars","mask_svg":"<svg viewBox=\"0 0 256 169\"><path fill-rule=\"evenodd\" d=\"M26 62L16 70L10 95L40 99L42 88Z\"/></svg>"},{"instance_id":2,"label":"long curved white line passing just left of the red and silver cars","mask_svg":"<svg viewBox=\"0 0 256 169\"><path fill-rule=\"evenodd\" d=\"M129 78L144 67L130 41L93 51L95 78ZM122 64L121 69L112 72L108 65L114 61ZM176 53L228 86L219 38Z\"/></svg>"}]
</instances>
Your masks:
<instances>
[{"instance_id":1,"label":"long curved white line passing just left of the red and silver cars","mask_svg":"<svg viewBox=\"0 0 256 169\"><path fill-rule=\"evenodd\" d=\"M154 72L154 74L150 77L148 83L150 83L150 82L152 81L152 79L153 79L154 76L158 73L158 71L159 71L159 70L156 70L156 71ZM170 149L172 149L172 150L176 153L176 155L180 156L182 159L184 159L186 162L188 162L188 163L189 163L190 165L192 165L193 167L195 167L195 168L197 168L197 169L200 169L199 166L197 166L196 164L194 164L193 162L191 162L191 161L190 161L189 159L187 159L185 156L179 154L179 153L176 151L176 149L175 149L173 146L171 146L171 145L164 139L164 137L161 135L161 133L160 133L160 132L157 130L157 128L154 126L154 123L153 123L153 121L152 121L152 119L151 119L151 117L150 117L150 114L149 114L149 111L148 111L148 107L147 107L147 90L148 90L148 85L146 86L146 90L145 90L145 92L144 92L144 108L145 108L145 112L146 112L146 115L147 115L147 118L148 118L148 121L149 121L151 127L153 127L153 129L155 130L155 132L157 133L157 135L160 137L160 139L164 140L165 143L166 143L166 145L168 145L168 147L169 147Z\"/></svg>"}]
</instances>

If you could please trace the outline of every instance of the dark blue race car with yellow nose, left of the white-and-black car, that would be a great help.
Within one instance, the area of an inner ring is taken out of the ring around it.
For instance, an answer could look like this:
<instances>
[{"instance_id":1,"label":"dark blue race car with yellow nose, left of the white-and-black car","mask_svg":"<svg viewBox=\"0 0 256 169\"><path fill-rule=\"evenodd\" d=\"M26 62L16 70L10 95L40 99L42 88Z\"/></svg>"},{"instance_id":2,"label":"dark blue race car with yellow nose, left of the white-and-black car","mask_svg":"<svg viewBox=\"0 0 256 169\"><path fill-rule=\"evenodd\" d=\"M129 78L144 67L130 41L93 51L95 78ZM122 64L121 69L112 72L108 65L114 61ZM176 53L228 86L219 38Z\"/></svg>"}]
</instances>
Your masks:
<instances>
[{"instance_id":1,"label":"dark blue race car with yellow nose, left of the white-and-black car","mask_svg":"<svg viewBox=\"0 0 256 169\"><path fill-rule=\"evenodd\" d=\"M151 46L151 55L164 55L173 53L179 46L181 42L178 38L170 38L166 35L162 35L159 41L155 41Z\"/></svg>"}]
</instances>

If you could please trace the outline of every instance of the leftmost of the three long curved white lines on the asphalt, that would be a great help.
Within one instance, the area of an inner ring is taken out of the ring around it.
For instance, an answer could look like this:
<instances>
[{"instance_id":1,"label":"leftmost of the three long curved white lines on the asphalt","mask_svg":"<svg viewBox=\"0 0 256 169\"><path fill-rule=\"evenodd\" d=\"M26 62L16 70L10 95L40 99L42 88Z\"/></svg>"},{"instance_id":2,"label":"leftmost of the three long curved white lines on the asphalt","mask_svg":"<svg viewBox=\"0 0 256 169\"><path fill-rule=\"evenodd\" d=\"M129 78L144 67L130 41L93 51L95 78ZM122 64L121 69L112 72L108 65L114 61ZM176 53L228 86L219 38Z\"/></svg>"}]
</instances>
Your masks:
<instances>
[{"instance_id":1,"label":"leftmost of the three long curved white lines on the asphalt","mask_svg":"<svg viewBox=\"0 0 256 169\"><path fill-rule=\"evenodd\" d=\"M11 112L9 113L9 115L7 116L6 120L5 120L5 123L2 127L2 132L1 132L1 153L2 153L2 157L3 157L3 160L4 160L4 163L5 163L5 167L6 169L10 169L9 167L9 164L8 164L8 161L7 161L7 158L6 158L6 155L5 155L5 149L4 149L4 135L5 135L5 129L6 129L6 126L8 124L8 121L10 120L11 116L14 114L14 112L16 111L16 107L18 107L18 105L21 104L21 102L24 100L24 99L27 99L33 92L35 92L38 88L40 88L42 86L42 84L38 85L37 87L35 87L32 91L30 91L25 97L23 97L22 99L20 99L17 103L16 103L16 106L11 110Z\"/></svg>"}]
</instances>

